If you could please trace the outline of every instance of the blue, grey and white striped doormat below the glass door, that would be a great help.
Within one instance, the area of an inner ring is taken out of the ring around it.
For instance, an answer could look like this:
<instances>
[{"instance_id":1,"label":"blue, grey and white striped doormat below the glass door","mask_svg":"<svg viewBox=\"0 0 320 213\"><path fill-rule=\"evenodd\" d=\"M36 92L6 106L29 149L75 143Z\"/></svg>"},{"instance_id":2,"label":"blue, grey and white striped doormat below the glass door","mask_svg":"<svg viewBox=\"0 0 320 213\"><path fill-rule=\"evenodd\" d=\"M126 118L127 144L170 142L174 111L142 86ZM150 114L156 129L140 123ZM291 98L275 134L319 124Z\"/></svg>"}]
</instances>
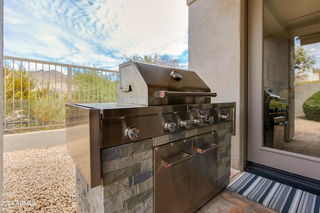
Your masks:
<instances>
[{"instance_id":1,"label":"blue, grey and white striped doormat below the glass door","mask_svg":"<svg viewBox=\"0 0 320 213\"><path fill-rule=\"evenodd\" d=\"M226 189L279 213L319 213L320 197L243 172Z\"/></svg>"}]
</instances>

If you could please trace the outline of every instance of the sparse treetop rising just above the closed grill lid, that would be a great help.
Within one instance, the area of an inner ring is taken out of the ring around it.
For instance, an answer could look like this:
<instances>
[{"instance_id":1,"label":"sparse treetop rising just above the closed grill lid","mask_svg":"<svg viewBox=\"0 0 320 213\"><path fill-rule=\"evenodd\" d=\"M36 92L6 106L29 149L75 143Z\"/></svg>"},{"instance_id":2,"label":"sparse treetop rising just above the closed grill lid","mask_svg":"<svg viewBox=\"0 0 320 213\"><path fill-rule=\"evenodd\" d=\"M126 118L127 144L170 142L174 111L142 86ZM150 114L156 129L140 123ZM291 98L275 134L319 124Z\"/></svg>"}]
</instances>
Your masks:
<instances>
[{"instance_id":1,"label":"sparse treetop rising just above the closed grill lid","mask_svg":"<svg viewBox=\"0 0 320 213\"><path fill-rule=\"evenodd\" d=\"M123 62L127 61L138 61L138 62L145 62L150 64L156 64L161 66L168 66L177 69L186 69L186 65L181 62L180 59L176 58L174 55L160 55L160 54L149 54L149 55L142 55L133 54L131 56L126 56L122 53Z\"/></svg>"}]
</instances>

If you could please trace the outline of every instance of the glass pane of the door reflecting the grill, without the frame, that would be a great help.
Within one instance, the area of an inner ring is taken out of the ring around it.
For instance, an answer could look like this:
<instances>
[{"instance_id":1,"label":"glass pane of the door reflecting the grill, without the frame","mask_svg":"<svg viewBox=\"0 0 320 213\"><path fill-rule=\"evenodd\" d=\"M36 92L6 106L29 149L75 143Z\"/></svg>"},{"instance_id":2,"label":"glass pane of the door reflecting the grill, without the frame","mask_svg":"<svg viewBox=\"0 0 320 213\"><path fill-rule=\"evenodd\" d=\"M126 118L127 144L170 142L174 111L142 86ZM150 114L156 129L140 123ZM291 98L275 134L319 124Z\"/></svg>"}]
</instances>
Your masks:
<instances>
[{"instance_id":1,"label":"glass pane of the door reflecting the grill, without the frame","mask_svg":"<svg viewBox=\"0 0 320 213\"><path fill-rule=\"evenodd\" d=\"M320 3L308 3L264 0L263 146L320 157Z\"/></svg>"}]
</instances>

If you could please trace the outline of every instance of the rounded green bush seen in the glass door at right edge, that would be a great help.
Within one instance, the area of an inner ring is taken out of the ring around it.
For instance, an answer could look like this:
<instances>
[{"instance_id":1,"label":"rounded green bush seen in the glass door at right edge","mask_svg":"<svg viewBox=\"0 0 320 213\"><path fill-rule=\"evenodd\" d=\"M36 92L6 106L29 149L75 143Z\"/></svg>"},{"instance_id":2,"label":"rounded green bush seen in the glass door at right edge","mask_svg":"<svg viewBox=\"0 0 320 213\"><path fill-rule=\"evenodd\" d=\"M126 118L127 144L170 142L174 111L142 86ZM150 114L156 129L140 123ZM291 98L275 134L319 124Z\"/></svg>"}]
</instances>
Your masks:
<instances>
[{"instance_id":1,"label":"rounded green bush seen in the glass door at right edge","mask_svg":"<svg viewBox=\"0 0 320 213\"><path fill-rule=\"evenodd\" d=\"M320 90L304 101L302 109L306 119L320 121Z\"/></svg>"}]
</instances>

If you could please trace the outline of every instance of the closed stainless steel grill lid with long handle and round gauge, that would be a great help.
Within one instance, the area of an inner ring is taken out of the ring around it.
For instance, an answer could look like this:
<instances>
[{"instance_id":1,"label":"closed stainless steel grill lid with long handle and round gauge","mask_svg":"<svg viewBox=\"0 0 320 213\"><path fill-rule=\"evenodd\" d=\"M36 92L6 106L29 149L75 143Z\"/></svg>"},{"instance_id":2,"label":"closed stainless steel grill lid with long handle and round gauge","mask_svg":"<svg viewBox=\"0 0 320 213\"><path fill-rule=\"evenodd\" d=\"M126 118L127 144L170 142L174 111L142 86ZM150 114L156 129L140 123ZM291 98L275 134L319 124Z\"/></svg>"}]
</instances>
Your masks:
<instances>
[{"instance_id":1,"label":"closed stainless steel grill lid with long handle and round gauge","mask_svg":"<svg viewBox=\"0 0 320 213\"><path fill-rule=\"evenodd\" d=\"M154 64L129 61L119 65L117 103L173 105L210 103L215 97L193 72Z\"/></svg>"}]
</instances>

